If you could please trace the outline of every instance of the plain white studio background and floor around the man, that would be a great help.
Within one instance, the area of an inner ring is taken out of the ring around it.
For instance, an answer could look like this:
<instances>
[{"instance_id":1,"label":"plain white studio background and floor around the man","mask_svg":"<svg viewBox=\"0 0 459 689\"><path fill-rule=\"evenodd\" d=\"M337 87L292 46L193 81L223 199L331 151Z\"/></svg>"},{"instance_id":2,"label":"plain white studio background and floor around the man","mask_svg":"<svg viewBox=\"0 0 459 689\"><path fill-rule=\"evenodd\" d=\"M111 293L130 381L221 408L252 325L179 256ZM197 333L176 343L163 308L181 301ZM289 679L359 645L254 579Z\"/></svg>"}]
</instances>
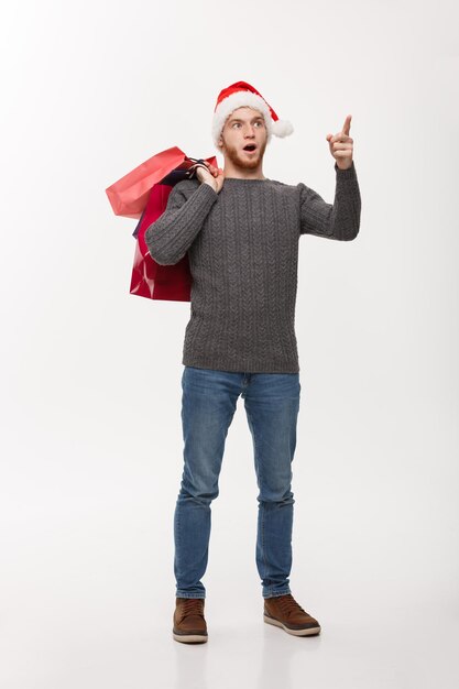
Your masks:
<instances>
[{"instance_id":1,"label":"plain white studio background and floor around the man","mask_svg":"<svg viewBox=\"0 0 459 689\"><path fill-rule=\"evenodd\" d=\"M458 686L457 23L452 0L2 6L2 687ZM329 203L326 135L352 114L361 229L300 238L291 583L323 633L262 622L239 400L189 647L171 635L189 303L129 294L135 221L105 189L172 145L215 154L241 79L295 128L264 174Z\"/></svg>"}]
</instances>

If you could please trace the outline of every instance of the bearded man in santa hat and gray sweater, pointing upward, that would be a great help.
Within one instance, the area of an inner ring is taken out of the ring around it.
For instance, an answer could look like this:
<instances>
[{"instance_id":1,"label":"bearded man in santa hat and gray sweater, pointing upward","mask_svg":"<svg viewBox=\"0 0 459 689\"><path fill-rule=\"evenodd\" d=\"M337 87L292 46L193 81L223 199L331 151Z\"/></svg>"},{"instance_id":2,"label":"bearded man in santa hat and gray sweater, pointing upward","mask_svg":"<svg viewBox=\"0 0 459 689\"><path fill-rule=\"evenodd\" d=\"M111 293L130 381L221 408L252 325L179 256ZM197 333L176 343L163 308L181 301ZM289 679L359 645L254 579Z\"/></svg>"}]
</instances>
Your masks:
<instances>
[{"instance_id":1,"label":"bearded man in santa hat and gray sweater, pointing upward","mask_svg":"<svg viewBox=\"0 0 459 689\"><path fill-rule=\"evenodd\" d=\"M245 81L223 89L212 136L225 167L203 165L178 183L165 212L145 233L153 259L175 264L188 253L190 319L183 350L184 471L174 516L176 606L173 637L208 638L204 615L210 503L238 397L244 400L260 489L256 567L264 621L297 636L320 633L293 598L292 460L300 383L294 329L302 234L348 241L360 227L361 200L348 116L327 135L335 162L334 205L305 184L263 174L272 134L292 133ZM238 496L234 495L234 501Z\"/></svg>"}]
</instances>

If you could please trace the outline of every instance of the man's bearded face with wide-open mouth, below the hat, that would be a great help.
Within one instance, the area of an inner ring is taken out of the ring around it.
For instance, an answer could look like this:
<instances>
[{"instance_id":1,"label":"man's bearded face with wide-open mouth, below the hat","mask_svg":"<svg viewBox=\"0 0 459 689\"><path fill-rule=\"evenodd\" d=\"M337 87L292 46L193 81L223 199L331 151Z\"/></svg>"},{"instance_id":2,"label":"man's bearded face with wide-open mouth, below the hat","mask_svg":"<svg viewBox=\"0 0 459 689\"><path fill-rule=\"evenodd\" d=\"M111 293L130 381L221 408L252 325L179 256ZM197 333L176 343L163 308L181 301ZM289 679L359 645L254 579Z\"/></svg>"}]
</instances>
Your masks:
<instances>
[{"instance_id":1,"label":"man's bearded face with wide-open mouth, below the hat","mask_svg":"<svg viewBox=\"0 0 459 689\"><path fill-rule=\"evenodd\" d=\"M267 143L264 118L253 108L238 108L228 117L221 132L221 152L231 163L243 169L256 168ZM248 150L253 149L252 151Z\"/></svg>"}]
</instances>

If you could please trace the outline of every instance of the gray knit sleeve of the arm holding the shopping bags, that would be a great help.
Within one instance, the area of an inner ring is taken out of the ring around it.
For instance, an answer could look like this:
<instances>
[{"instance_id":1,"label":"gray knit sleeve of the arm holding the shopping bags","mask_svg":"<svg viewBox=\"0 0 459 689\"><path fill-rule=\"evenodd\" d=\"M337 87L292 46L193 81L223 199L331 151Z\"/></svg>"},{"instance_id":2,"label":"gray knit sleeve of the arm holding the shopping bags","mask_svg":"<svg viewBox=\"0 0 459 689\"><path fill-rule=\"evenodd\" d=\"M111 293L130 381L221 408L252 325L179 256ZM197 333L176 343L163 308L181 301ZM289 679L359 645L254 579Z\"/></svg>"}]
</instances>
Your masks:
<instances>
[{"instance_id":1,"label":"gray knit sleeve of the arm holding the shopping bags","mask_svg":"<svg viewBox=\"0 0 459 689\"><path fill-rule=\"evenodd\" d=\"M182 183L175 185L165 211L145 231L146 247L156 263L174 265L183 259L217 198L217 192L205 183L190 195Z\"/></svg>"}]
</instances>

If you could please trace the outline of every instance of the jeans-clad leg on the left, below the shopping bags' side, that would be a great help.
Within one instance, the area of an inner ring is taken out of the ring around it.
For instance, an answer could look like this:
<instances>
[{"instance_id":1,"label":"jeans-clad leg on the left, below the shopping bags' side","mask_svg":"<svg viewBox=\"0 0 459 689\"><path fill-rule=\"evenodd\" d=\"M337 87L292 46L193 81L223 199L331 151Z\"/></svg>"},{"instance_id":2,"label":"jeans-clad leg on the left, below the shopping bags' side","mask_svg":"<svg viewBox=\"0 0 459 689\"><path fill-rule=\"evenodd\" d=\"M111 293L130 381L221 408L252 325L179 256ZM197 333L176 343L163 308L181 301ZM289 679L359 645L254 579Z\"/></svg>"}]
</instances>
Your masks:
<instances>
[{"instance_id":1,"label":"jeans-clad leg on the left, below the shopping bags' side","mask_svg":"<svg viewBox=\"0 0 459 689\"><path fill-rule=\"evenodd\" d=\"M184 471L174 515L174 572L177 598L206 598L210 503L242 374L185 367L182 376Z\"/></svg>"}]
</instances>

